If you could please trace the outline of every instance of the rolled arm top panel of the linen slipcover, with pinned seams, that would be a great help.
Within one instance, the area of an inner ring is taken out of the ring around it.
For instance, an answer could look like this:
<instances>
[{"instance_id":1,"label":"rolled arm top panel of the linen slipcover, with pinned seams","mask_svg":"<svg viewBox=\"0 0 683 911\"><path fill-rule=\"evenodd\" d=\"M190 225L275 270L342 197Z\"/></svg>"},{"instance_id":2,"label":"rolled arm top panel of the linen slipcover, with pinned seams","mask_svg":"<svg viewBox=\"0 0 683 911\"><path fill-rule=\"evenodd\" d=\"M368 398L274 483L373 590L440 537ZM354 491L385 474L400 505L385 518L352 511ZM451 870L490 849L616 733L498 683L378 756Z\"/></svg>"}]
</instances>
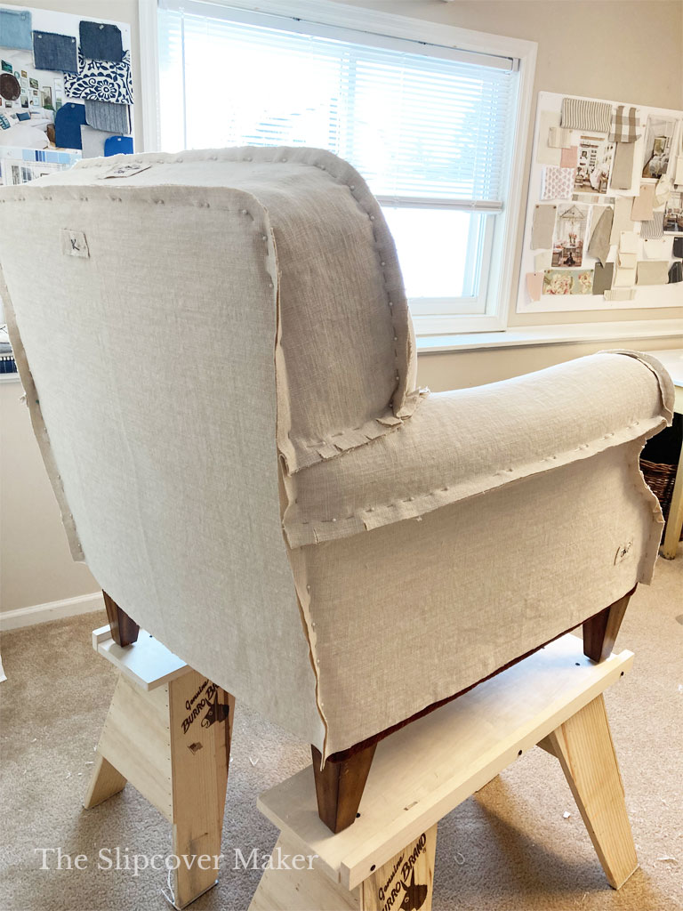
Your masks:
<instances>
[{"instance_id":1,"label":"rolled arm top panel of the linen slipcover, with pinned seams","mask_svg":"<svg viewBox=\"0 0 683 911\"><path fill-rule=\"evenodd\" d=\"M653 358L604 352L433 394L410 422L287 478L291 548L348 537L657 433L673 388Z\"/></svg>"}]
</instances>

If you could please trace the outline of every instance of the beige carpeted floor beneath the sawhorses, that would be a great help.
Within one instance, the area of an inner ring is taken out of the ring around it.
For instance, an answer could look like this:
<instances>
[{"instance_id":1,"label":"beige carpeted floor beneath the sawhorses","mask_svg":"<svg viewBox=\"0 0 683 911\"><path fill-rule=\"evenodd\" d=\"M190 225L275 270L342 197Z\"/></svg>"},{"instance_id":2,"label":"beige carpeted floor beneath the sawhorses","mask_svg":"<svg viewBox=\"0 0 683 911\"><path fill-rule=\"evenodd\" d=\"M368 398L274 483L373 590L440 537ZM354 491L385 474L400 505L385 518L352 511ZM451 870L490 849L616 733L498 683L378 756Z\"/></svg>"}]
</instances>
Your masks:
<instances>
[{"instance_id":1,"label":"beige carpeted floor beneath the sawhorses","mask_svg":"<svg viewBox=\"0 0 683 911\"><path fill-rule=\"evenodd\" d=\"M56 621L2 638L0 911L163 911L163 873L97 868L98 852L170 852L169 824L130 786L94 810L80 801L115 671L90 646L104 616ZM670 911L683 908L683 548L641 586L617 648L634 670L607 692L640 869L614 892L559 763L533 750L439 826L434 911ZM219 885L192 907L249 906L259 871L235 849L270 852L276 831L256 796L309 762L307 747L244 707L236 712ZM568 818L564 814L568 812ZM85 870L41 870L36 848L87 855ZM104 855L108 856L107 854ZM105 866L106 864L101 864ZM298 911L298 909L292 909Z\"/></svg>"}]
</instances>

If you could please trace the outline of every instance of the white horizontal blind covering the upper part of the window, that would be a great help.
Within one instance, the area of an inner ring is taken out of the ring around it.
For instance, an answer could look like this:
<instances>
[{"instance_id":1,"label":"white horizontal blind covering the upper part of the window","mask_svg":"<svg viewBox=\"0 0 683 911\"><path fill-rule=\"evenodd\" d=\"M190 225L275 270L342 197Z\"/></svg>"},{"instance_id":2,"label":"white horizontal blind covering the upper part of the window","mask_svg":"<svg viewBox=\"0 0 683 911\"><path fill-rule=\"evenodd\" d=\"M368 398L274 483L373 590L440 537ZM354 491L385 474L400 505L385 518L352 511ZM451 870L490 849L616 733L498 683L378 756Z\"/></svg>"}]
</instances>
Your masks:
<instances>
[{"instance_id":1,"label":"white horizontal blind covering the upper part of the window","mask_svg":"<svg viewBox=\"0 0 683 911\"><path fill-rule=\"evenodd\" d=\"M445 47L368 46L230 13L191 2L159 9L163 148L319 146L350 160L381 197L502 205L512 61L467 63L432 56L453 55Z\"/></svg>"}]
</instances>

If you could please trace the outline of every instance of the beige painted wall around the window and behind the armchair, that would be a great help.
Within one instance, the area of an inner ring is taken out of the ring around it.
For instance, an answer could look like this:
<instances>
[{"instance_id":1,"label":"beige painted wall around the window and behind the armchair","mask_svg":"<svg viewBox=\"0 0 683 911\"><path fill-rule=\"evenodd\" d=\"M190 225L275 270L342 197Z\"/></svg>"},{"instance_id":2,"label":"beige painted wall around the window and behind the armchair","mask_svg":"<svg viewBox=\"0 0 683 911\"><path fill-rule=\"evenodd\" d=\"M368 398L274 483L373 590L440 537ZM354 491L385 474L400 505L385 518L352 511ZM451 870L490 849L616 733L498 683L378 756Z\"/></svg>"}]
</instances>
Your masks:
<instances>
[{"instance_id":1,"label":"beige painted wall around the window and behind the armchair","mask_svg":"<svg viewBox=\"0 0 683 911\"><path fill-rule=\"evenodd\" d=\"M538 42L535 91L683 108L683 0L564 0L440 3L436 0L345 0L350 5L411 15L464 28ZM5 5L11 5L4 0ZM26 4L27 5L27 4ZM140 97L137 0L40 0L46 9L101 16L131 26L134 87ZM141 108L136 132L141 138ZM530 154L531 135L527 157ZM528 161L527 161L528 164ZM525 169L528 173L528 167ZM517 239L517 261L523 224ZM515 281L516 285L516 281ZM628 311L627 320L679 315L671 310ZM619 320L618 313L511 315L514 324ZM676 343L631 341L641 350ZM680 344L678 342L678 344ZM420 358L420 383L434 391L489 383L551 363L593 353L600 344L549 345L494 351L430 354ZM74 564L47 482L19 385L0 384L0 609L12 610L96 591L85 567ZM484 415L483 415L484 417Z\"/></svg>"}]
</instances>

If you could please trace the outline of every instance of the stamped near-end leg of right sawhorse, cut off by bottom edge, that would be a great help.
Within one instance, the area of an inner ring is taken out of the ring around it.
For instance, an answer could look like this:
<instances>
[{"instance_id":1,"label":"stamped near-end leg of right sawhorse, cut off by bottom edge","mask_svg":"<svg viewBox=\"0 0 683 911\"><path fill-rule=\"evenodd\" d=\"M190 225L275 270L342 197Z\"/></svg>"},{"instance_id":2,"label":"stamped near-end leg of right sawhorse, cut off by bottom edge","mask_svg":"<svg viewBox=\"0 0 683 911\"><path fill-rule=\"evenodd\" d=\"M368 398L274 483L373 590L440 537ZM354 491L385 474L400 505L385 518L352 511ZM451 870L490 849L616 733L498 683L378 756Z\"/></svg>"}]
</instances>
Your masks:
<instances>
[{"instance_id":1,"label":"stamped near-end leg of right sawhorse, cut off by bottom edge","mask_svg":"<svg viewBox=\"0 0 683 911\"><path fill-rule=\"evenodd\" d=\"M273 851L272 868L261 876L249 911L432 911L436 826L406 845L351 891L334 883L305 855L301 869L293 869L297 849L280 835ZM287 857L290 869L277 867Z\"/></svg>"}]
</instances>

